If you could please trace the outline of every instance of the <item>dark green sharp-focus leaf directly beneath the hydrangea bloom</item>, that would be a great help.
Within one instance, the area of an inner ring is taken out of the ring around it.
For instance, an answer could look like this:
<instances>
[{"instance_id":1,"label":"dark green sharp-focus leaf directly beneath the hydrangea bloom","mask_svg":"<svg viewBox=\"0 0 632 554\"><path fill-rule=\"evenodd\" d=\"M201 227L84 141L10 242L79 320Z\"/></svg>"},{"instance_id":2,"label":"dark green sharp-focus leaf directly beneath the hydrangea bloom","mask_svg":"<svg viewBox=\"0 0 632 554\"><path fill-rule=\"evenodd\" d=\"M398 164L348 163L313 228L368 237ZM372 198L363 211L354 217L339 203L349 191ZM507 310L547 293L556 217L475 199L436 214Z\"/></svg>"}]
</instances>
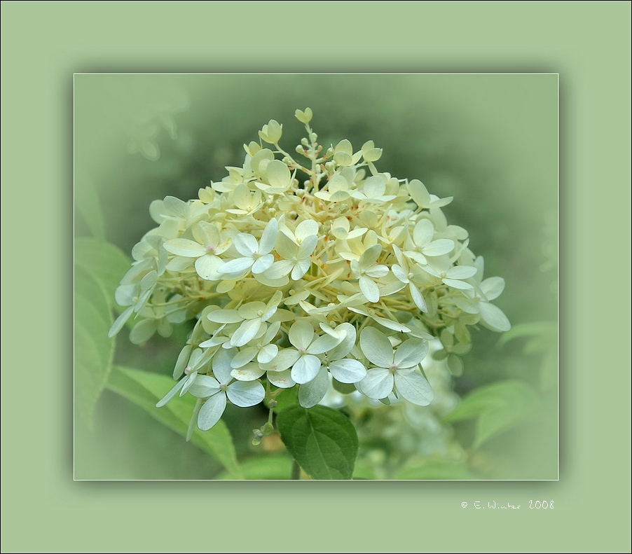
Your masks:
<instances>
[{"instance_id":1,"label":"dark green sharp-focus leaf directly beneath the hydrangea bloom","mask_svg":"<svg viewBox=\"0 0 632 554\"><path fill-rule=\"evenodd\" d=\"M358 440L345 415L324 406L289 406L277 416L282 441L314 479L350 479Z\"/></svg>"}]
</instances>

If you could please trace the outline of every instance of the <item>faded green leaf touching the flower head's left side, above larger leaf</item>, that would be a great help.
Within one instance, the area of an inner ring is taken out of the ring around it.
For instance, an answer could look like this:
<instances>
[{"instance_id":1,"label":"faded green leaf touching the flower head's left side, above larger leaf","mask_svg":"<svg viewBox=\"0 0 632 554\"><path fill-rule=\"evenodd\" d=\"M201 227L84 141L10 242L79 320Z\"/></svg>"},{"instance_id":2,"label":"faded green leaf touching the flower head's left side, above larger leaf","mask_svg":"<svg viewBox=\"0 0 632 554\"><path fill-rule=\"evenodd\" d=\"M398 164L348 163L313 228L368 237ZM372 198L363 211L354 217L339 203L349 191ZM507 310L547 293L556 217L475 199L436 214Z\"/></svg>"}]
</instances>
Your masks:
<instances>
[{"instance_id":1,"label":"faded green leaf touching the flower head's left side, above larger leaf","mask_svg":"<svg viewBox=\"0 0 632 554\"><path fill-rule=\"evenodd\" d=\"M108 299L114 302L114 291L121 277L130 268L130 259L114 244L80 237L74 244L75 267L81 267L97 279Z\"/></svg>"}]
</instances>

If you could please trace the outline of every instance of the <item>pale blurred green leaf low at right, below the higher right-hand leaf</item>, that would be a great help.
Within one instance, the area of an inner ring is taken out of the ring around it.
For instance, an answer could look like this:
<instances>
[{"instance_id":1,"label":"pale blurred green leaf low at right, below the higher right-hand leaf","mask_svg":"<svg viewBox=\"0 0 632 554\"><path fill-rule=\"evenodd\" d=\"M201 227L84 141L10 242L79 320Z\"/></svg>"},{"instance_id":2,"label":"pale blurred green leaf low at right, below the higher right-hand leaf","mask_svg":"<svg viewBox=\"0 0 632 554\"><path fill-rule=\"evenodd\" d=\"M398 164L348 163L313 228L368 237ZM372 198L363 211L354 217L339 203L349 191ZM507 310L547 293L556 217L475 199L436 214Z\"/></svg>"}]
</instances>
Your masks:
<instances>
[{"instance_id":1,"label":"pale blurred green leaf low at right, below the higher right-hand leaf","mask_svg":"<svg viewBox=\"0 0 632 554\"><path fill-rule=\"evenodd\" d=\"M535 389L525 382L507 380L479 387L467 394L447 422L477 417L474 448L493 436L528 420L539 403Z\"/></svg>"}]
</instances>

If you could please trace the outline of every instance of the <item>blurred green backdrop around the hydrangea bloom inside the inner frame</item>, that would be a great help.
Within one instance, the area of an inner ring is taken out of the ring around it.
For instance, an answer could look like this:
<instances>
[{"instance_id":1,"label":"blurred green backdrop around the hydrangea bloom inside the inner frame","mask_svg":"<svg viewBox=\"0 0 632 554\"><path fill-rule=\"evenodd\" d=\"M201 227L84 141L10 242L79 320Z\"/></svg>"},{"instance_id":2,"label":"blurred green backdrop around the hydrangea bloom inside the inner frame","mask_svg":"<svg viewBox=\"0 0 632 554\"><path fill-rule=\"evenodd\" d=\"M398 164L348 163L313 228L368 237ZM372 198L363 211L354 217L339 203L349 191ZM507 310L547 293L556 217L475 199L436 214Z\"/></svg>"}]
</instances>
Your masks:
<instances>
[{"instance_id":1,"label":"blurred green backdrop around the hydrangea bloom inside the inner frame","mask_svg":"<svg viewBox=\"0 0 632 554\"><path fill-rule=\"evenodd\" d=\"M486 277L505 279L495 303L514 326L504 335L474 331L462 371L424 364L441 390L429 408L350 401L345 411L360 438L355 476L557 478L556 75L86 74L76 76L74 106L76 344L83 340L78 333L104 327L92 305L82 303L95 298L94 277L81 275L101 261L107 277L97 279L103 297L97 296L111 308L111 291L125 271L124 257L104 251L102 241L129 255L155 226L152 200L188 200L221 180L226 166L242 164L242 145L258 139L271 118L284 125L281 144L292 151L302 136L294 110L310 106L322 144L346 138L358 149L371 139L383 148L380 171L454 197L444 209L448 223L469 231ZM123 331L116 348L109 341L113 351L103 346L99 355L115 367L170 377L187 331L183 326L142 347ZM98 363L82 352L76 350L76 372ZM101 382L92 383L102 391L92 413L79 409L76 382L76 478L237 476L130 402L117 371L104 370ZM239 476L288 478L291 461L276 435L257 447L250 443L265 408L230 408L224 421Z\"/></svg>"}]
</instances>

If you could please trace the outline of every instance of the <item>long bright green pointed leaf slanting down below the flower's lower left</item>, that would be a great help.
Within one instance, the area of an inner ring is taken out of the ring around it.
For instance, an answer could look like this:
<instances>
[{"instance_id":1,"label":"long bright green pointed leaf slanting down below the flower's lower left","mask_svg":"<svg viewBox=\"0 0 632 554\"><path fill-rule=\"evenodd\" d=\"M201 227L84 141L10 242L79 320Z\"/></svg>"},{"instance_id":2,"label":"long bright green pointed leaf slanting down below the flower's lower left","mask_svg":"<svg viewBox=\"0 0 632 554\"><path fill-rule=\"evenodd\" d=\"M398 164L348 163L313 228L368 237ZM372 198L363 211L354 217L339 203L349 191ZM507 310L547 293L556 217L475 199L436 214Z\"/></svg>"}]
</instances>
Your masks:
<instances>
[{"instance_id":1,"label":"long bright green pointed leaf slanting down below the flower's lower left","mask_svg":"<svg viewBox=\"0 0 632 554\"><path fill-rule=\"evenodd\" d=\"M173 385L172 378L165 377L165 375L114 366L107 387L137 406L144 408L149 415L172 431L186 436L188 423L195 406L193 396L187 394L177 397L167 406L156 408L156 402L163 398ZM233 439L223 421L217 422L209 431L202 432L195 429L191 442L217 459L230 473L231 478L243 478L237 462Z\"/></svg>"}]
</instances>

